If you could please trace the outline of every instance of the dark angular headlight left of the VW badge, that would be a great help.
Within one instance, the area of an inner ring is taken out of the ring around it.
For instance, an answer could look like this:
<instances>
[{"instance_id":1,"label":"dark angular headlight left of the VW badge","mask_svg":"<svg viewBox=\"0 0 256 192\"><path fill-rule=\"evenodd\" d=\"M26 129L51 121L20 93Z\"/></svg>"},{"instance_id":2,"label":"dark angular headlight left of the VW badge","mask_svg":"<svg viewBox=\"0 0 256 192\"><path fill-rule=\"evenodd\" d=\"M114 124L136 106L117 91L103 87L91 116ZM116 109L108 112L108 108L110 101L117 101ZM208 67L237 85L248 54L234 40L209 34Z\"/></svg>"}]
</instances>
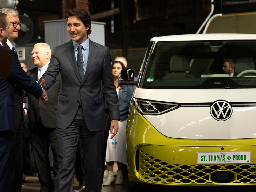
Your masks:
<instances>
[{"instance_id":1,"label":"dark angular headlight left of the VW badge","mask_svg":"<svg viewBox=\"0 0 256 192\"><path fill-rule=\"evenodd\" d=\"M158 102L137 98L132 98L132 104L142 115L161 115L180 107L177 103Z\"/></svg>"}]
</instances>

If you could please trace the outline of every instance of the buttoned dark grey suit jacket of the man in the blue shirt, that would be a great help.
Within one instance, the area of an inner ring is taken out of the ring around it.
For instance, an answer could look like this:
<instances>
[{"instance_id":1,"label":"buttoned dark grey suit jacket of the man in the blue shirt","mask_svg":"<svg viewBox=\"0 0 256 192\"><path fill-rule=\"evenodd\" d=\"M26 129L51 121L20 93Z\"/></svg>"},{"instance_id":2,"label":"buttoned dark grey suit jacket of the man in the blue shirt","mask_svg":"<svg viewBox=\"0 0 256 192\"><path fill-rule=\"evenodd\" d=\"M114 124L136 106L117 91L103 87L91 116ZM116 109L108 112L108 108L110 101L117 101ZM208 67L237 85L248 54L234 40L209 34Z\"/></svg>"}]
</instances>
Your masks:
<instances>
[{"instance_id":1,"label":"buttoned dark grey suit jacket of the man in the blue shirt","mask_svg":"<svg viewBox=\"0 0 256 192\"><path fill-rule=\"evenodd\" d=\"M61 73L56 127L65 129L71 124L77 113L80 98L89 130L99 131L107 126L104 97L111 119L120 119L119 101L111 71L109 48L90 40L87 68L81 82L72 40L54 48L49 67L39 82L45 79L47 90L56 81L59 72Z\"/></svg>"}]
</instances>

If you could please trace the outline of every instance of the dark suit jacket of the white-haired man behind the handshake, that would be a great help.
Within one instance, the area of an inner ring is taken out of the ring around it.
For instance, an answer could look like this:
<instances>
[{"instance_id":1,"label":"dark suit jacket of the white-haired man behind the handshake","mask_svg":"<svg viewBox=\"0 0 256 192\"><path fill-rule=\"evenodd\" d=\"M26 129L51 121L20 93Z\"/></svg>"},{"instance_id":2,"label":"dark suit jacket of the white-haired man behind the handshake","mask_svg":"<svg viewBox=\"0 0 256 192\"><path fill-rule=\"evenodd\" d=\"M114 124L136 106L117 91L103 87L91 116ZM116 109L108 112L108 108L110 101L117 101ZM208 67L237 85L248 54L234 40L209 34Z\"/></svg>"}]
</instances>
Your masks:
<instances>
[{"instance_id":1,"label":"dark suit jacket of the white-haired man behind the handshake","mask_svg":"<svg viewBox=\"0 0 256 192\"><path fill-rule=\"evenodd\" d=\"M35 67L29 71L27 74L33 79L38 81L38 67ZM39 117L41 117L42 123L47 128L56 127L56 110L59 92L61 90L61 75L57 75L56 82L54 85L46 91L48 95L48 101L42 102L31 94L27 94L29 100L29 128L38 128Z\"/></svg>"}]
</instances>

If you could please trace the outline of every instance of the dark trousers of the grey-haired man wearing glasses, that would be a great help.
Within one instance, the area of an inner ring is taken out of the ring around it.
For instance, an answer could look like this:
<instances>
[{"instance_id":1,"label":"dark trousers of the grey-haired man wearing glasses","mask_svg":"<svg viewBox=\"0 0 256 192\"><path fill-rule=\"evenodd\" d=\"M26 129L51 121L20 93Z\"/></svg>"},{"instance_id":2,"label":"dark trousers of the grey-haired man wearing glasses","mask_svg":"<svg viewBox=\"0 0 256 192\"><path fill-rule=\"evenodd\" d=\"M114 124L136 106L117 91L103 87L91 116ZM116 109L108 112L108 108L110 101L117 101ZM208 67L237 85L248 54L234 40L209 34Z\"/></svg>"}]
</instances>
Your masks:
<instances>
[{"instance_id":1,"label":"dark trousers of the grey-haired man wearing glasses","mask_svg":"<svg viewBox=\"0 0 256 192\"><path fill-rule=\"evenodd\" d=\"M21 120L19 128L15 130L12 136L13 154L11 162L11 184L10 192L20 192L22 185L23 172L23 120Z\"/></svg>"}]
</instances>

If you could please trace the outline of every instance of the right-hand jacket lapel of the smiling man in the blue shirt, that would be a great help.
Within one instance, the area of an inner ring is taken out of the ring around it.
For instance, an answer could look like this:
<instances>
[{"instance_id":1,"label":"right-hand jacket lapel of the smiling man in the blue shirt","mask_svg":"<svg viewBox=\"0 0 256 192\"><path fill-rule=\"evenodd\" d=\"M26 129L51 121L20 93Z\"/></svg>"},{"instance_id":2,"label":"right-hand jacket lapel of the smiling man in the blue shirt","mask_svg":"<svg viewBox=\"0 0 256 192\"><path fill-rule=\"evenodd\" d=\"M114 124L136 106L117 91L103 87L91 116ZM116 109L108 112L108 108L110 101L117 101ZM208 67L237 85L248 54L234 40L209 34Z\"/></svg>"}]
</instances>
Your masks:
<instances>
[{"instance_id":1,"label":"right-hand jacket lapel of the smiling man in the blue shirt","mask_svg":"<svg viewBox=\"0 0 256 192\"><path fill-rule=\"evenodd\" d=\"M91 71L91 68L93 67L93 63L96 59L98 50L95 49L95 47L96 47L95 43L90 39L88 61L87 61L85 76L83 77L82 84L85 82L86 78L88 77Z\"/></svg>"}]
</instances>

